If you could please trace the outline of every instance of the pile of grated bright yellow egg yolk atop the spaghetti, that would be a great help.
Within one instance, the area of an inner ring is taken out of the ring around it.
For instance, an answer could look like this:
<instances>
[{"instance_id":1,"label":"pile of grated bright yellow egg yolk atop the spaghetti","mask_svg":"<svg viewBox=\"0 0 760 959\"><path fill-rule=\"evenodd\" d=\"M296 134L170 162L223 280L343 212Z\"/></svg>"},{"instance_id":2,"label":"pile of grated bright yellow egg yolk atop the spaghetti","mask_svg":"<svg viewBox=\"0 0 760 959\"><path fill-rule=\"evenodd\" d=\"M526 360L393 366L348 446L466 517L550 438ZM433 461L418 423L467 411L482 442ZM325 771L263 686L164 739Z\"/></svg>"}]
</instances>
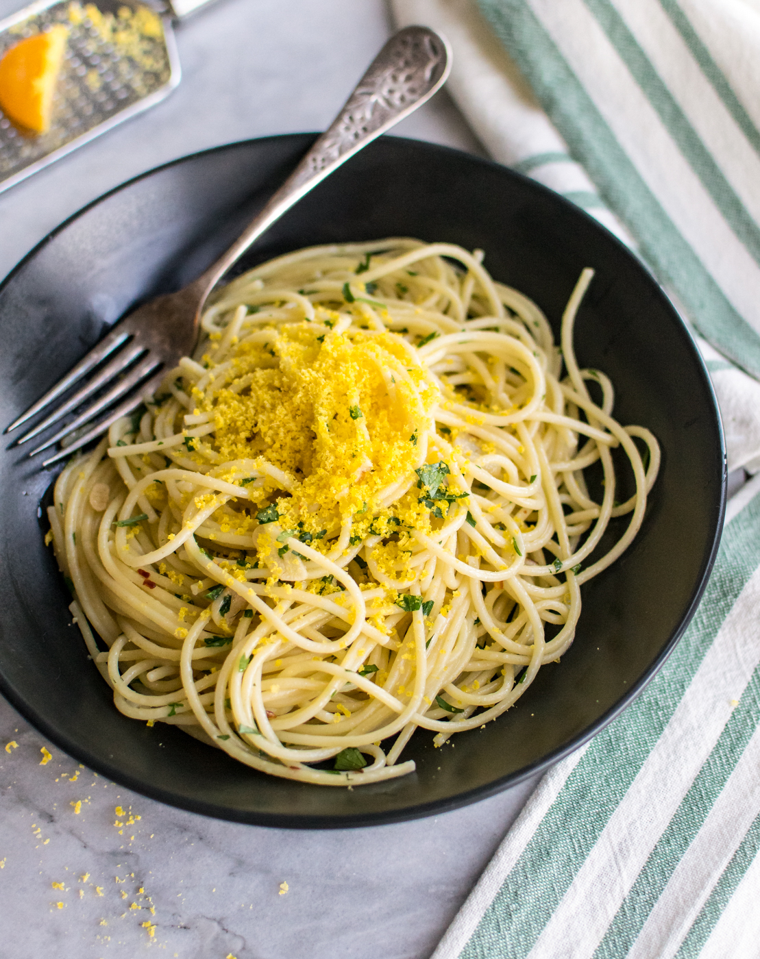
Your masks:
<instances>
[{"instance_id":1,"label":"pile of grated bright yellow egg yolk atop the spaghetti","mask_svg":"<svg viewBox=\"0 0 760 959\"><path fill-rule=\"evenodd\" d=\"M226 385L200 391L225 461L263 457L294 481L280 526L333 530L372 514L381 494L412 475L439 390L397 335L302 322L243 341ZM210 363L213 367L213 362ZM196 393L199 392L196 390ZM413 438L414 437L414 438Z\"/></svg>"}]
</instances>

